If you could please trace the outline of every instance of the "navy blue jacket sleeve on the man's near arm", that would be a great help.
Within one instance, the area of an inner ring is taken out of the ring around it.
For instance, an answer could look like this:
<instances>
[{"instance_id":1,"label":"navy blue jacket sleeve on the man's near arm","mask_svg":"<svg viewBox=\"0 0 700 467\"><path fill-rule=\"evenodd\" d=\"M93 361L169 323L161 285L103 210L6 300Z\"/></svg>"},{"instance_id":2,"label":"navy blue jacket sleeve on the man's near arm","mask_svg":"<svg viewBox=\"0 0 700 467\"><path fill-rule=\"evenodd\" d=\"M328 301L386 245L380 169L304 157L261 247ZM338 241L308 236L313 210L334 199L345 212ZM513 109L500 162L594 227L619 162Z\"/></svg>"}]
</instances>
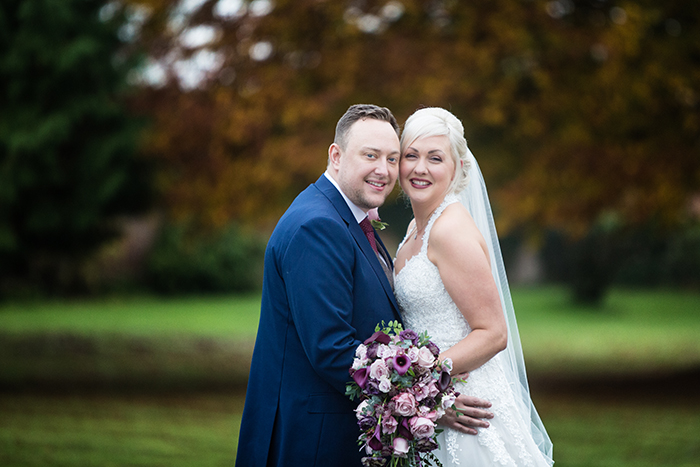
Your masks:
<instances>
[{"instance_id":1,"label":"navy blue jacket sleeve on the man's near arm","mask_svg":"<svg viewBox=\"0 0 700 467\"><path fill-rule=\"evenodd\" d=\"M292 319L311 365L345 393L360 342L352 324L356 244L341 221L317 218L301 225L284 255Z\"/></svg>"}]
</instances>

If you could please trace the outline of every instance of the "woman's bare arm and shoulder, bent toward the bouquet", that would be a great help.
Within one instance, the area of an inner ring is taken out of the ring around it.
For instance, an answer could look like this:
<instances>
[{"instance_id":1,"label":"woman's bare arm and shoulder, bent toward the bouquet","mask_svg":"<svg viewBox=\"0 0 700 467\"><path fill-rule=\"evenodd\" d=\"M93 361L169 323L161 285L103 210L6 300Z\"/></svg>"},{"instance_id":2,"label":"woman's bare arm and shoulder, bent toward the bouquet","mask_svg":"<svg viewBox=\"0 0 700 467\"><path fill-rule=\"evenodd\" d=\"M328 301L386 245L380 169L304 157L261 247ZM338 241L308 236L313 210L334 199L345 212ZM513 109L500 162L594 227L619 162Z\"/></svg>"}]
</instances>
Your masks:
<instances>
[{"instance_id":1,"label":"woman's bare arm and shoulder, bent toward the bouquet","mask_svg":"<svg viewBox=\"0 0 700 467\"><path fill-rule=\"evenodd\" d=\"M453 374L472 371L506 348L508 328L488 249L466 208L452 205L438 218L430 233L428 258L472 329L441 357L452 359Z\"/></svg>"}]
</instances>

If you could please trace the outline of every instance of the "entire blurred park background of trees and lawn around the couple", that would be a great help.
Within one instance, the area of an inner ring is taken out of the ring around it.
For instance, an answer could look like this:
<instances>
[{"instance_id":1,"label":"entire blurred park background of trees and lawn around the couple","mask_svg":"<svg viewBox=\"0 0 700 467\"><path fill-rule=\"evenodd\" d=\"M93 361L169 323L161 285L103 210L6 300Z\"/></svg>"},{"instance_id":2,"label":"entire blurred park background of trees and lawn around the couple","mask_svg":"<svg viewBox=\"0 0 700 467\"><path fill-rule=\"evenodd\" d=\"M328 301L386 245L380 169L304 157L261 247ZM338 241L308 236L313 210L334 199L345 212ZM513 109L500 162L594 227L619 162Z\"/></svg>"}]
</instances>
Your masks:
<instances>
[{"instance_id":1,"label":"entire blurred park background of trees and lawn around the couple","mask_svg":"<svg viewBox=\"0 0 700 467\"><path fill-rule=\"evenodd\" d=\"M697 465L699 19L3 0L0 464L231 465L267 238L373 103L464 123L558 465ZM380 215L393 250L398 189Z\"/></svg>"}]
</instances>

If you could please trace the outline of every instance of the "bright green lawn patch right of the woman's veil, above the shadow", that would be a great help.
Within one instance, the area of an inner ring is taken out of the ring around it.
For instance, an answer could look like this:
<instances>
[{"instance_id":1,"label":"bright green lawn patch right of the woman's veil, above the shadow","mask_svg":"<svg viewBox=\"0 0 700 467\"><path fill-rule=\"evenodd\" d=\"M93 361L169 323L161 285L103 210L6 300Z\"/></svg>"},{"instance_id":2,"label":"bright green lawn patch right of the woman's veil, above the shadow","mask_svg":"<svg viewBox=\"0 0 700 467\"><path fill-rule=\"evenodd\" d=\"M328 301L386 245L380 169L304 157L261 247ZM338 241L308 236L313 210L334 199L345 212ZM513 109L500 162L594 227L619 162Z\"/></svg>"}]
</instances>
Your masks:
<instances>
[{"instance_id":1,"label":"bright green lawn patch right of the woman's veil, above the shadow","mask_svg":"<svg viewBox=\"0 0 700 467\"><path fill-rule=\"evenodd\" d=\"M700 367L700 294L613 290L601 308L561 288L513 292L528 371L659 373Z\"/></svg>"}]
</instances>

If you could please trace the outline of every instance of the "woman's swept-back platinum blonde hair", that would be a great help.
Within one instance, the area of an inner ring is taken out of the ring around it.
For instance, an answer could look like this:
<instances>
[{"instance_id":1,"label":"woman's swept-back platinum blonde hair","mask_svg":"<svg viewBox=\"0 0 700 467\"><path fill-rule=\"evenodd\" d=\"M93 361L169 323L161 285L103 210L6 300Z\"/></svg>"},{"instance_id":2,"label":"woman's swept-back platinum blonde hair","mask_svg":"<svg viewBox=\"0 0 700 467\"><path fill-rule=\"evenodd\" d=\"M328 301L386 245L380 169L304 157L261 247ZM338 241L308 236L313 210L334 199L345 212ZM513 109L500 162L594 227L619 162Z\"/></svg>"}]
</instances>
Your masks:
<instances>
[{"instance_id":1,"label":"woman's swept-back platinum blonde hair","mask_svg":"<svg viewBox=\"0 0 700 467\"><path fill-rule=\"evenodd\" d=\"M440 107L426 107L416 110L408 117L401 134L401 154L418 138L429 136L447 136L450 152L455 162L455 173L448 193L457 194L469 183L471 163L467 157L467 140L464 138L464 126L451 112Z\"/></svg>"}]
</instances>

